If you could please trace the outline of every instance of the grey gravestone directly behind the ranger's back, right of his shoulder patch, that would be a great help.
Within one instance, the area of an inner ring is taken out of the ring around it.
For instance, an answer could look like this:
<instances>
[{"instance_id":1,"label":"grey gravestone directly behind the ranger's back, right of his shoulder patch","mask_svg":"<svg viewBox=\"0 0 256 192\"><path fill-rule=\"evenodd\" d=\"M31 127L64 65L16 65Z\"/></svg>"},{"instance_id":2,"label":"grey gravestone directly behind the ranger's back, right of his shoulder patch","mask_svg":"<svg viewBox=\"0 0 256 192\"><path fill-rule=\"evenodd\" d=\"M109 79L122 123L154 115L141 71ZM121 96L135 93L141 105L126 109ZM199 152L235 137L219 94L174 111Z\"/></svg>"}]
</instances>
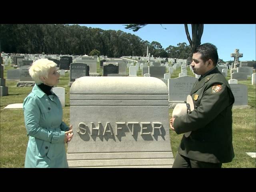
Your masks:
<instances>
[{"instance_id":1,"label":"grey gravestone directly behind the ranger's back, right of his shoulder patch","mask_svg":"<svg viewBox=\"0 0 256 192\"><path fill-rule=\"evenodd\" d=\"M234 95L235 102L233 107L243 108L248 106L248 88L243 84L229 84Z\"/></svg>"}]
</instances>

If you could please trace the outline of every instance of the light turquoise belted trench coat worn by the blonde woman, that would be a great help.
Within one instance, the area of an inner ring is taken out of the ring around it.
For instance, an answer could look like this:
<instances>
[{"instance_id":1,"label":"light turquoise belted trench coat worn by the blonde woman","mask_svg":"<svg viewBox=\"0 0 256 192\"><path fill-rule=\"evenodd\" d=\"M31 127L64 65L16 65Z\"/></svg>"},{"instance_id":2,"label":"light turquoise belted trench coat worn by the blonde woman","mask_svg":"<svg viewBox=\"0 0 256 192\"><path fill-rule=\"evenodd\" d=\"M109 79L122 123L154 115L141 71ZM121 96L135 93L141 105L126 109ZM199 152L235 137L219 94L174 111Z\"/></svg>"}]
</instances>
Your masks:
<instances>
[{"instance_id":1,"label":"light turquoise belted trench coat worn by the blonde woman","mask_svg":"<svg viewBox=\"0 0 256 192\"><path fill-rule=\"evenodd\" d=\"M29 135L25 168L67 168L64 136L69 127L62 121L58 96L47 96L35 85L23 110Z\"/></svg>"}]
</instances>

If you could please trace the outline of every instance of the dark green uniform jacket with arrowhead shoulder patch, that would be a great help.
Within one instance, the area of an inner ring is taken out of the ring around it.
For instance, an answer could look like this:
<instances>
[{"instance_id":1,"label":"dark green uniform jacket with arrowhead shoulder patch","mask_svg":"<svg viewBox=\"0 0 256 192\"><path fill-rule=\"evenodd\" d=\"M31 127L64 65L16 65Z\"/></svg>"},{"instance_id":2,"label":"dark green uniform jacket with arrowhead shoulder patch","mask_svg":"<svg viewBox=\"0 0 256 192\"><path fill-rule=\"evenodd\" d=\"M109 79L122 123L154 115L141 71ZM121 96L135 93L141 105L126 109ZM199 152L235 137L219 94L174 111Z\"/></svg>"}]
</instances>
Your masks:
<instances>
[{"instance_id":1,"label":"dark green uniform jacket with arrowhead shoulder patch","mask_svg":"<svg viewBox=\"0 0 256 192\"><path fill-rule=\"evenodd\" d=\"M231 162L234 96L226 78L215 67L194 84L190 95L195 109L173 124L177 134L192 131L188 138L182 137L178 152L202 162Z\"/></svg>"}]
</instances>

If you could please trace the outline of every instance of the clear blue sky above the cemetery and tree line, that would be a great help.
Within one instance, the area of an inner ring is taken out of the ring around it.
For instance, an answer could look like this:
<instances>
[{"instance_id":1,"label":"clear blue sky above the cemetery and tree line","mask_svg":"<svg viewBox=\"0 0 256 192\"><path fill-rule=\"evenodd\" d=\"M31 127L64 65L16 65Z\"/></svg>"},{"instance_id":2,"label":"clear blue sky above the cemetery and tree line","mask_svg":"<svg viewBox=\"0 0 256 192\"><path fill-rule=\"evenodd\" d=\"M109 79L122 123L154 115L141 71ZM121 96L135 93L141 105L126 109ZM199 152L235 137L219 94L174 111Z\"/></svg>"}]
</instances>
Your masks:
<instances>
[{"instance_id":1,"label":"clear blue sky above the cemetery and tree line","mask_svg":"<svg viewBox=\"0 0 256 192\"><path fill-rule=\"evenodd\" d=\"M189 45L184 24L148 24L137 32L125 29L125 24L79 24L103 30L122 30L139 36L142 40L159 42L165 49L168 46L177 46L185 42ZM166 28L166 29L164 29ZM188 24L190 38L192 38L191 25ZM241 61L256 60L256 24L204 24L201 44L212 43L218 49L218 56L224 61L234 60L230 57L239 49L243 54Z\"/></svg>"}]
</instances>

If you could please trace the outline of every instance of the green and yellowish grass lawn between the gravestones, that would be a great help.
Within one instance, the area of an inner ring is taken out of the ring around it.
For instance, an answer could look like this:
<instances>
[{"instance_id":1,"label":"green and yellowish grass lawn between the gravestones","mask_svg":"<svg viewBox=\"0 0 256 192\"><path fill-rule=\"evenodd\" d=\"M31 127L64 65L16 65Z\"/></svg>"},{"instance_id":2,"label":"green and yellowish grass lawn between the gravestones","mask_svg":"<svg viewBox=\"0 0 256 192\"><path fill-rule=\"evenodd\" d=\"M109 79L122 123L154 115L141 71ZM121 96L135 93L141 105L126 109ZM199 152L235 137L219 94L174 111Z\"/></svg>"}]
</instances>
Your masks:
<instances>
[{"instance_id":1,"label":"green and yellowish grass lawn between the gravestones","mask_svg":"<svg viewBox=\"0 0 256 192\"><path fill-rule=\"evenodd\" d=\"M6 71L12 69L5 66ZM194 76L189 68L188 75ZM102 75L100 62L97 64L97 72ZM180 70L174 71L171 78L178 77ZM127 69L127 73L129 70ZM138 70L137 75L141 76L142 71ZM230 79L228 72L227 80ZM60 77L58 86L65 88L66 106L63 108L63 121L69 125L70 118L70 87L68 86L69 73L65 77ZM4 109L8 104L22 103L24 98L31 92L32 87L17 87L17 82L6 81L8 86L8 96L0 98L0 168L23 168L28 137L24 124L24 114L22 109ZM255 85L251 85L251 79L238 81L238 84L245 84L248 87L248 105L250 109L233 109L233 146L235 158L232 162L223 164L223 168L256 168L256 159L251 158L246 152L256 152L256 95ZM169 116L172 109L169 109ZM182 134L177 135L170 131L170 140L174 157L176 156Z\"/></svg>"}]
</instances>

